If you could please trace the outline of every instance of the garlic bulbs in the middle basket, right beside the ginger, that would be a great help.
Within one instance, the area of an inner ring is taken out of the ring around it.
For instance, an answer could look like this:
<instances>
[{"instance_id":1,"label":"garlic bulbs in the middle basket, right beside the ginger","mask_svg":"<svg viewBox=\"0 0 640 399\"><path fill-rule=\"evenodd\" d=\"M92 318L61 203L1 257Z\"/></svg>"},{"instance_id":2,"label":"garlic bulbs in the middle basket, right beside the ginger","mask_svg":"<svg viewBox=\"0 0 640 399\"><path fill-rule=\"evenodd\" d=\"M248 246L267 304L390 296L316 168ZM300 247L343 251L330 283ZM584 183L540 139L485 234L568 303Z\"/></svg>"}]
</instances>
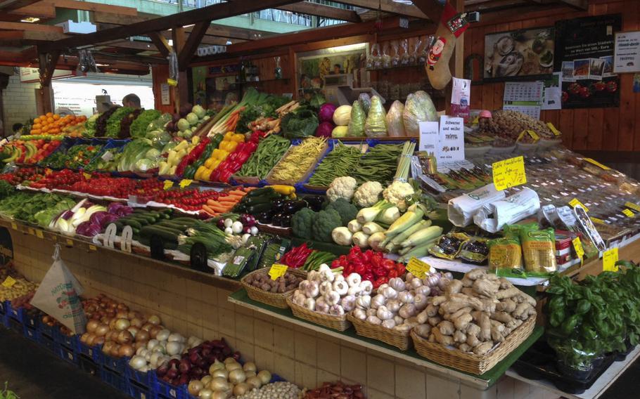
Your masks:
<instances>
[{"instance_id":1,"label":"garlic bulbs in the middle basket, right beside the ginger","mask_svg":"<svg viewBox=\"0 0 640 399\"><path fill-rule=\"evenodd\" d=\"M352 315L374 325L408 333L420 324L416 315L427 307L428 296L440 294L449 284L451 273L427 273L423 279L411 273L404 280L393 277L378 287L377 294L361 295Z\"/></svg>"}]
</instances>

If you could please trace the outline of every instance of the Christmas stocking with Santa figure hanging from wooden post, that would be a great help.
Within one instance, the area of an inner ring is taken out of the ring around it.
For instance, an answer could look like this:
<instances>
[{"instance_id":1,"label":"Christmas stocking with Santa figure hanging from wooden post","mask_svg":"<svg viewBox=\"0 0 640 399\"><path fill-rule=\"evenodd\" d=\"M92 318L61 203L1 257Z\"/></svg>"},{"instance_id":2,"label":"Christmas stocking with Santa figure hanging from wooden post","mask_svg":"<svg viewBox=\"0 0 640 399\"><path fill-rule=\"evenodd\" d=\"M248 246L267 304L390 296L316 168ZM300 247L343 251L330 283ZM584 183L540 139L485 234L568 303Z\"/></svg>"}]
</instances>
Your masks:
<instances>
[{"instance_id":1,"label":"Christmas stocking with Santa figure hanging from wooden post","mask_svg":"<svg viewBox=\"0 0 640 399\"><path fill-rule=\"evenodd\" d=\"M435 42L425 64L429 82L434 89L444 89L451 81L449 58L454 53L456 39L469 26L465 17L466 13L457 13L451 4L444 4L440 24L435 31Z\"/></svg>"}]
</instances>

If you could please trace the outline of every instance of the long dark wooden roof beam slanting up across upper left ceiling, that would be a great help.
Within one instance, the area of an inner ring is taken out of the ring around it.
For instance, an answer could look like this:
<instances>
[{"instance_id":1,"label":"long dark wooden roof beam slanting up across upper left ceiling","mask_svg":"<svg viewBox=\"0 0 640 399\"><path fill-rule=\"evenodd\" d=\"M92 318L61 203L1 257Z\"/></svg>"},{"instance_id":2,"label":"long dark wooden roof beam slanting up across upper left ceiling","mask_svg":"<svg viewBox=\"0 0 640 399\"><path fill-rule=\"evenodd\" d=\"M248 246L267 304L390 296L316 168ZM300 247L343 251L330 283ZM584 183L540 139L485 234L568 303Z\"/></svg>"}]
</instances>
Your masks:
<instances>
[{"instance_id":1,"label":"long dark wooden roof beam slanting up across upper left ceiling","mask_svg":"<svg viewBox=\"0 0 640 399\"><path fill-rule=\"evenodd\" d=\"M148 32L158 32L158 30L168 30L173 27L183 27L198 22L219 20L245 13L260 11L264 8L276 8L295 3L295 0L237 0L233 3L225 2L198 8L196 10L185 11L155 18L153 20L137 22L132 25L114 27L108 30L101 30L94 33L77 35L68 39L53 41L44 44L44 50L56 48L67 48L77 46L87 46L90 44L100 44L108 40L124 39L125 37L147 34Z\"/></svg>"}]
</instances>

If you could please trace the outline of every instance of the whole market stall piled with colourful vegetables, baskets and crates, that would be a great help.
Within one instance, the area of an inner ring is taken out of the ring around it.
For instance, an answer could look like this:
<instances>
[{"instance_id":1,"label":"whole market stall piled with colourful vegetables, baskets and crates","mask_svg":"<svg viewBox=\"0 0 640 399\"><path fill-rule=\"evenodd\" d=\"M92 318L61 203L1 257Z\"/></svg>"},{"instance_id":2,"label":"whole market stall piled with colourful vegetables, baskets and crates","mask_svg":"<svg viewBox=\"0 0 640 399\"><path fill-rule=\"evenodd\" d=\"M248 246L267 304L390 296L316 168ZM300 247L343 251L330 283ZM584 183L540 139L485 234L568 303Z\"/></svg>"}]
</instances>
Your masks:
<instances>
[{"instance_id":1,"label":"whole market stall piled with colourful vegetables, baskets and crates","mask_svg":"<svg viewBox=\"0 0 640 399\"><path fill-rule=\"evenodd\" d=\"M134 398L597 398L638 358L640 183L535 101L475 109L465 15L192 55L221 10L155 21L198 24L172 33L172 112L45 112L1 144L2 325ZM487 40L535 75L543 31ZM513 72L487 63L480 105Z\"/></svg>"}]
</instances>

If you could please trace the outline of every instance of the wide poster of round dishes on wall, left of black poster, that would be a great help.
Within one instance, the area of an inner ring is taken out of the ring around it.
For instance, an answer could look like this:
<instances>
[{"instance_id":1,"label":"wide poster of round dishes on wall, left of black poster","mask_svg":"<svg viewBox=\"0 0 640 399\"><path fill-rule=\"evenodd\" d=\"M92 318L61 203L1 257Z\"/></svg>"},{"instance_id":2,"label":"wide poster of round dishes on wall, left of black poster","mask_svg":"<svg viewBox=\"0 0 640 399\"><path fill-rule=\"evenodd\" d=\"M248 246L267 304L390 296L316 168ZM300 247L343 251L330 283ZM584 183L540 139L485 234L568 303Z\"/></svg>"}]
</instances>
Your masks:
<instances>
[{"instance_id":1,"label":"wide poster of round dishes on wall, left of black poster","mask_svg":"<svg viewBox=\"0 0 640 399\"><path fill-rule=\"evenodd\" d=\"M485 35L485 81L543 78L553 72L553 27Z\"/></svg>"}]
</instances>

